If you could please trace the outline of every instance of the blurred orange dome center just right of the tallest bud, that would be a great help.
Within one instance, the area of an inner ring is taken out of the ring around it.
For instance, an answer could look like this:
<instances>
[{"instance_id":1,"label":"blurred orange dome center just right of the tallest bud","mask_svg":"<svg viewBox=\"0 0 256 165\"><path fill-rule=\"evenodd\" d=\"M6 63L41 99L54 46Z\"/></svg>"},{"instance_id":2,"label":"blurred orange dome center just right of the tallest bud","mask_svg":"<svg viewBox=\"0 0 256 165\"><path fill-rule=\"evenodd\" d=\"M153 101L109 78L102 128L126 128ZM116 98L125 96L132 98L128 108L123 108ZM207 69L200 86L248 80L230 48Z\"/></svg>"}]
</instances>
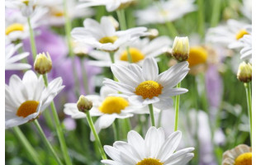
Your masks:
<instances>
[{"instance_id":1,"label":"blurred orange dome center just right of the tallest bud","mask_svg":"<svg viewBox=\"0 0 256 165\"><path fill-rule=\"evenodd\" d=\"M207 51L203 47L194 46L190 48L189 57L187 59L190 67L193 67L197 64L204 64L206 63L206 59Z\"/></svg>"}]
</instances>

